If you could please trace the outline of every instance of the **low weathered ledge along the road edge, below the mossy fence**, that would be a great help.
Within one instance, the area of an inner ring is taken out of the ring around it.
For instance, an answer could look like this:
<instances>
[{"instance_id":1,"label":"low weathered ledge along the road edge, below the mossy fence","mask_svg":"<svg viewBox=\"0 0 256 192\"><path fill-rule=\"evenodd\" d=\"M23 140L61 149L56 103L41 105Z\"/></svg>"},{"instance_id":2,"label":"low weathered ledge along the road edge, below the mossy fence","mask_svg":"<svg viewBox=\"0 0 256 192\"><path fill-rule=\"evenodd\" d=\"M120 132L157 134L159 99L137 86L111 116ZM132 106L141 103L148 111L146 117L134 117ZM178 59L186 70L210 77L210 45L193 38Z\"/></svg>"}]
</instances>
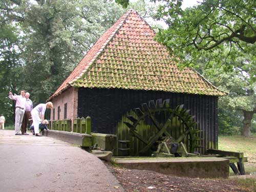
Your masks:
<instances>
[{"instance_id":1,"label":"low weathered ledge along the road edge, below the mossy fence","mask_svg":"<svg viewBox=\"0 0 256 192\"><path fill-rule=\"evenodd\" d=\"M92 146L92 136L88 134L71 133L55 130L44 130L42 135L52 137L69 143L77 144L83 147Z\"/></svg>"}]
</instances>

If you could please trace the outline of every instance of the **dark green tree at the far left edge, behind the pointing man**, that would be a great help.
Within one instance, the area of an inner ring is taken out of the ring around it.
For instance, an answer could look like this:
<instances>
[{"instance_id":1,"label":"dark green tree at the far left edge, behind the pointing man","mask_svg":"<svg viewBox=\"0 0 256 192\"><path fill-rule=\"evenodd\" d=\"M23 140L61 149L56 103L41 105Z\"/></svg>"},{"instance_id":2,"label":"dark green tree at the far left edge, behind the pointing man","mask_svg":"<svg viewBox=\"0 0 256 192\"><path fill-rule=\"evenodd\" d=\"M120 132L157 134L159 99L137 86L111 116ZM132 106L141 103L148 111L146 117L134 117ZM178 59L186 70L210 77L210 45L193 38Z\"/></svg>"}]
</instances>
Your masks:
<instances>
[{"instance_id":1,"label":"dark green tree at the far left edge, behind the pointing man","mask_svg":"<svg viewBox=\"0 0 256 192\"><path fill-rule=\"evenodd\" d=\"M0 105L1 114L7 123L13 123L14 103L8 99L8 92L20 91L20 75L23 73L23 62L20 59L20 34L18 23L15 23L15 4L11 1L0 2Z\"/></svg>"}]
</instances>

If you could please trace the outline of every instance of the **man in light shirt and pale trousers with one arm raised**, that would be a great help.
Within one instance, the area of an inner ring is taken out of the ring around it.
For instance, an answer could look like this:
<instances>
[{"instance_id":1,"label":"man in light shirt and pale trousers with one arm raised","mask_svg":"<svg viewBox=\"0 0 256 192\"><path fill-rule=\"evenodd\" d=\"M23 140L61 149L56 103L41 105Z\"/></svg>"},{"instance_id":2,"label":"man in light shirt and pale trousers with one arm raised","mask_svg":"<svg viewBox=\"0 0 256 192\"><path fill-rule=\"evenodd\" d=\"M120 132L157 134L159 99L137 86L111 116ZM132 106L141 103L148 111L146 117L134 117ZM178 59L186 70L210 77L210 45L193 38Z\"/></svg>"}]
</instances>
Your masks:
<instances>
[{"instance_id":1,"label":"man in light shirt and pale trousers with one arm raised","mask_svg":"<svg viewBox=\"0 0 256 192\"><path fill-rule=\"evenodd\" d=\"M15 135L20 134L20 127L22 126L22 120L25 113L25 91L20 91L20 95L12 95L12 92L9 92L9 98L16 100L15 105Z\"/></svg>"}]
</instances>

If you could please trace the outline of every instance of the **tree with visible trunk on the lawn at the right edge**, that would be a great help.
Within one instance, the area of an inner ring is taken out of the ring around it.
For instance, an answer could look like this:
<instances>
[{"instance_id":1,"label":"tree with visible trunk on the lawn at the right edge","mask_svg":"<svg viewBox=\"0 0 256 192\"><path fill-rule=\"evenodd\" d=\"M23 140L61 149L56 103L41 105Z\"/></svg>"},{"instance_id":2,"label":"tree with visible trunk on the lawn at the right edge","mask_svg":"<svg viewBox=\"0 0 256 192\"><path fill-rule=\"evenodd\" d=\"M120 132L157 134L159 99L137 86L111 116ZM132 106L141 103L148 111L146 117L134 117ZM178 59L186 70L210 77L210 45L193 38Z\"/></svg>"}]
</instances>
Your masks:
<instances>
[{"instance_id":1,"label":"tree with visible trunk on the lawn at the right edge","mask_svg":"<svg viewBox=\"0 0 256 192\"><path fill-rule=\"evenodd\" d=\"M247 48L246 52L226 61L235 66L232 71L227 72L223 68L217 69L218 65L213 65L211 69L203 70L205 75L220 89L229 92L228 96L219 99L219 108L223 116L232 111L232 116L237 115L237 118L242 114L241 130L242 135L246 137L250 135L253 115L256 114L255 46L251 45L249 47L251 49ZM221 118L223 119L223 117ZM237 119L232 121L237 122L234 126L239 125Z\"/></svg>"}]
</instances>

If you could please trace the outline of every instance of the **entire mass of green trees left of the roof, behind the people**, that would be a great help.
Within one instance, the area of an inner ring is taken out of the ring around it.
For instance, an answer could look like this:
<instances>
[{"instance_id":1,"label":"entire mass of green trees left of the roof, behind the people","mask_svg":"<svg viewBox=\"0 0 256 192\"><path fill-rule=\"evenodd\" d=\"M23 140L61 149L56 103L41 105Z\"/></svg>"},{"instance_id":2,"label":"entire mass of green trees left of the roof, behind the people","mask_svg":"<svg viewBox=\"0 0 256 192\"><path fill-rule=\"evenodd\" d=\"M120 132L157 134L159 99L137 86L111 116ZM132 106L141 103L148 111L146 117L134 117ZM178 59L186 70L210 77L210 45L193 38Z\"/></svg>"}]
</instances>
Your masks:
<instances>
[{"instance_id":1,"label":"entire mass of green trees left of the roof, behind the people","mask_svg":"<svg viewBox=\"0 0 256 192\"><path fill-rule=\"evenodd\" d=\"M14 121L8 92L36 105L56 91L83 55L124 13L113 1L0 2L0 112Z\"/></svg>"}]
</instances>

